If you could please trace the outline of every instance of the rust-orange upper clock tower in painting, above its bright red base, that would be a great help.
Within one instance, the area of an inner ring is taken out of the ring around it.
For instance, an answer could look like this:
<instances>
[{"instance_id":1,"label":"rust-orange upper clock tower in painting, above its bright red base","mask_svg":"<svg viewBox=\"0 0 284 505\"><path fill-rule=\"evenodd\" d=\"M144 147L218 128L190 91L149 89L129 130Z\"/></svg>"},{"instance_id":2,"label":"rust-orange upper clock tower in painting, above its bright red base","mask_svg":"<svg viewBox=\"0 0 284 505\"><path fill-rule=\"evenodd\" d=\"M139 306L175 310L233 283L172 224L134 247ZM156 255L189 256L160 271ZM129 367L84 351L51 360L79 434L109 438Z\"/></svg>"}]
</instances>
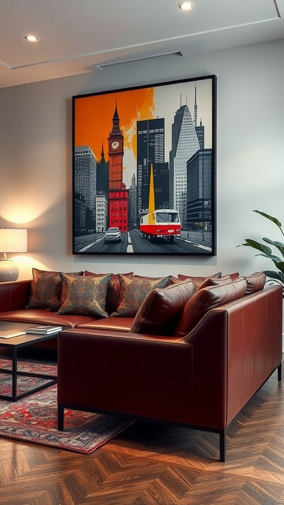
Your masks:
<instances>
[{"instance_id":1,"label":"rust-orange upper clock tower in painting, above its bright red base","mask_svg":"<svg viewBox=\"0 0 284 505\"><path fill-rule=\"evenodd\" d=\"M112 131L108 137L109 141L109 171L110 171L110 189L123 188L122 182L122 158L123 158L123 135L119 127L119 116L117 104L112 118Z\"/></svg>"}]
</instances>

